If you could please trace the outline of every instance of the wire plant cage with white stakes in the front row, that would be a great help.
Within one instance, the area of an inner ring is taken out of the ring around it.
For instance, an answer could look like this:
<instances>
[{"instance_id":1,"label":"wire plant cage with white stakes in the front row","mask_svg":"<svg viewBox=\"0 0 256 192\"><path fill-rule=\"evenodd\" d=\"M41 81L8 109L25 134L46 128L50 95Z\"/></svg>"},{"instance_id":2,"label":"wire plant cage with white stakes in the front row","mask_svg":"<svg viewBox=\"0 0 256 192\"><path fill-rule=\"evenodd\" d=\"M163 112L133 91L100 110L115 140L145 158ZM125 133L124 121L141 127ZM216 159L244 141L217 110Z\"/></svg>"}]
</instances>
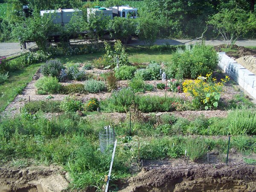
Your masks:
<instances>
[{"instance_id":1,"label":"wire plant cage with white stakes in the front row","mask_svg":"<svg viewBox=\"0 0 256 192\"><path fill-rule=\"evenodd\" d=\"M115 143L115 131L110 125L105 126L99 132L99 148L102 153L108 151L108 149L113 149Z\"/></svg>"}]
</instances>

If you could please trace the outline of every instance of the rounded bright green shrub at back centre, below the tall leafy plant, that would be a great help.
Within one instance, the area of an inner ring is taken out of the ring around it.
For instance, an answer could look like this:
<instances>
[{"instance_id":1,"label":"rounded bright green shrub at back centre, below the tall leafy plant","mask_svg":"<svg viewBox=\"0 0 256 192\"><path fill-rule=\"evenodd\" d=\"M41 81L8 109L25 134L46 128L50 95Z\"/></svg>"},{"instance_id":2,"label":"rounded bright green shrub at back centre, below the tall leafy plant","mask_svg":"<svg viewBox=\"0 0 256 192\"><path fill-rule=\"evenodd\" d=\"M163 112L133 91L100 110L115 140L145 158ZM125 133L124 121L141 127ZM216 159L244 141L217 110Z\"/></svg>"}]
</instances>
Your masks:
<instances>
[{"instance_id":1,"label":"rounded bright green shrub at back centre, below the tall leafy plant","mask_svg":"<svg viewBox=\"0 0 256 192\"><path fill-rule=\"evenodd\" d=\"M115 76L118 80L132 79L136 71L136 67L122 65L119 68L115 68Z\"/></svg>"}]
</instances>

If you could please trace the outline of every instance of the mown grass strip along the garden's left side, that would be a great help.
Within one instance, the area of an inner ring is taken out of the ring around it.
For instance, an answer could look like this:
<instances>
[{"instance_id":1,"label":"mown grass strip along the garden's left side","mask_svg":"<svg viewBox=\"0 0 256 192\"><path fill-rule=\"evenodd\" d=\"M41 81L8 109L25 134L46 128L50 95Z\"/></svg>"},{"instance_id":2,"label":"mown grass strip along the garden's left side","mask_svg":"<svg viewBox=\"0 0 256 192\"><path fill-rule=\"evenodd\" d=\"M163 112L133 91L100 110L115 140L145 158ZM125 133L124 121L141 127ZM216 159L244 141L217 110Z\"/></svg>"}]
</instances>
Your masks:
<instances>
[{"instance_id":1,"label":"mown grass strip along the garden's left side","mask_svg":"<svg viewBox=\"0 0 256 192\"><path fill-rule=\"evenodd\" d=\"M41 64L33 64L22 70L9 73L8 81L0 85L0 111L3 111L12 102L24 84L32 80L40 66Z\"/></svg>"}]
</instances>

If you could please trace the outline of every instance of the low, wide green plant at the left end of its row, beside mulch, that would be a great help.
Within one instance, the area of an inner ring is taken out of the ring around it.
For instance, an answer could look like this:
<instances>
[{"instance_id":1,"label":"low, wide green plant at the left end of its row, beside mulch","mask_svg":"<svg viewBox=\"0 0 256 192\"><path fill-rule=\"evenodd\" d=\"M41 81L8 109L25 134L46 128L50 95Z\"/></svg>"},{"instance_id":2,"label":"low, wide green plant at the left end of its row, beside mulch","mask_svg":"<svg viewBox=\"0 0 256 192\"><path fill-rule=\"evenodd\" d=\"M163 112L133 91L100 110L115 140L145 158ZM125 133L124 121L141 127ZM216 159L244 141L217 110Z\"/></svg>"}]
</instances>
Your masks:
<instances>
[{"instance_id":1,"label":"low, wide green plant at the left end of its row, beside mulch","mask_svg":"<svg viewBox=\"0 0 256 192\"><path fill-rule=\"evenodd\" d=\"M24 110L28 113L43 111L45 113L60 112L60 101L32 101L24 105Z\"/></svg>"}]
</instances>

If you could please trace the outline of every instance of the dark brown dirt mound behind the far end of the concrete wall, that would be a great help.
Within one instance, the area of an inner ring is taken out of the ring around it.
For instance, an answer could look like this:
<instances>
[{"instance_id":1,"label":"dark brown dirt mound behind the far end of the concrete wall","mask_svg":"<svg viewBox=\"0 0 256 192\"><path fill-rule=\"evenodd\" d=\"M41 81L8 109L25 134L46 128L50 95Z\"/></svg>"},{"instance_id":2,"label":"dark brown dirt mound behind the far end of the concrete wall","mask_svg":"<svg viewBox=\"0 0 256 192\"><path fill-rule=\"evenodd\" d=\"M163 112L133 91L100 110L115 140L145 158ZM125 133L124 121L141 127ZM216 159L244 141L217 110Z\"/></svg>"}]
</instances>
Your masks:
<instances>
[{"instance_id":1,"label":"dark brown dirt mound behind the far end of the concrete wall","mask_svg":"<svg viewBox=\"0 0 256 192\"><path fill-rule=\"evenodd\" d=\"M215 50L221 52L221 48L226 48L226 45L218 45L215 46ZM233 45L232 49L236 49L236 52L226 52L226 55L233 58L244 57L247 55L254 55L256 56L256 49L250 49L242 46Z\"/></svg>"}]
</instances>

